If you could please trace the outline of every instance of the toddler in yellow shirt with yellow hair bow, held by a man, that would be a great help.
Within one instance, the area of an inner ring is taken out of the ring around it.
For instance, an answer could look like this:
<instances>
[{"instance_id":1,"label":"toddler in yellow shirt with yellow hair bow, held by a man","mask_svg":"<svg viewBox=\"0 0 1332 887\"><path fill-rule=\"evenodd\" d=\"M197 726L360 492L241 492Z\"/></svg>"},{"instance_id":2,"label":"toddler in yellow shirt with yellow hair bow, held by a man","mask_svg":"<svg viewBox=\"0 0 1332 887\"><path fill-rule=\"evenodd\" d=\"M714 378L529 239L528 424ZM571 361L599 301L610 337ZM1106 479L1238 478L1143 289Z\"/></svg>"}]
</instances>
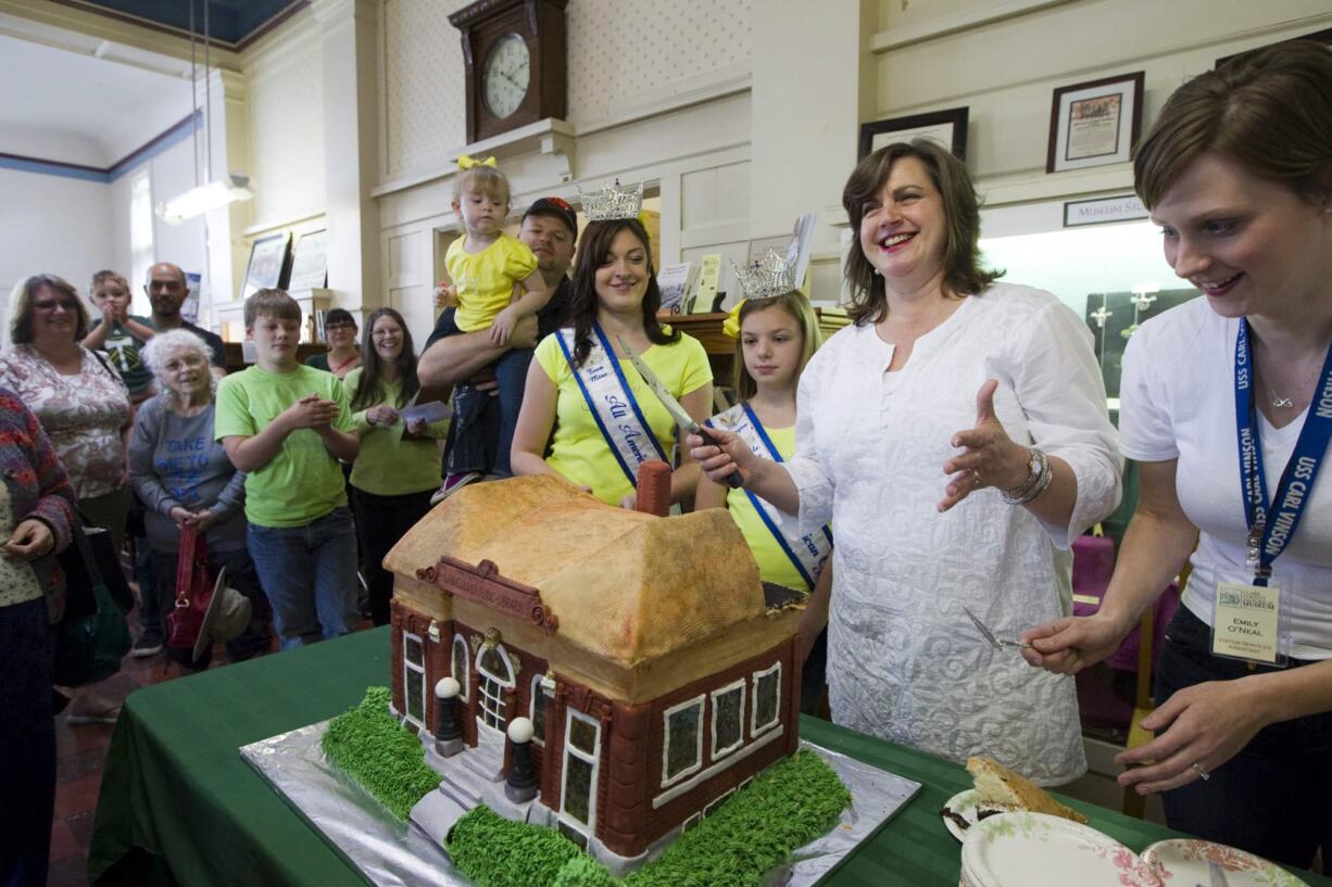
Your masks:
<instances>
[{"instance_id":1,"label":"toddler in yellow shirt with yellow hair bow, held by a man","mask_svg":"<svg viewBox=\"0 0 1332 887\"><path fill-rule=\"evenodd\" d=\"M454 178L453 212L464 224L464 236L449 245L445 266L450 285L441 288L444 304L458 306L452 330L444 334L470 333L490 329L496 345L509 341L514 325L523 317L535 314L550 298L550 290L537 269L537 257L517 237L502 230L509 213L509 180L494 165L494 158L484 162L468 156L458 158L460 173ZM515 293L521 290L521 294ZM509 450L513 429L518 424L522 390L527 378L531 349L513 348L493 365L500 397L500 441L494 457L494 473L509 477ZM481 417L490 394L478 392L470 384L458 385L453 393L453 421L456 441L464 436L485 434ZM472 450L456 445L450 454ZM449 493L464 483L481 478L478 466L445 466L441 491Z\"/></svg>"}]
</instances>

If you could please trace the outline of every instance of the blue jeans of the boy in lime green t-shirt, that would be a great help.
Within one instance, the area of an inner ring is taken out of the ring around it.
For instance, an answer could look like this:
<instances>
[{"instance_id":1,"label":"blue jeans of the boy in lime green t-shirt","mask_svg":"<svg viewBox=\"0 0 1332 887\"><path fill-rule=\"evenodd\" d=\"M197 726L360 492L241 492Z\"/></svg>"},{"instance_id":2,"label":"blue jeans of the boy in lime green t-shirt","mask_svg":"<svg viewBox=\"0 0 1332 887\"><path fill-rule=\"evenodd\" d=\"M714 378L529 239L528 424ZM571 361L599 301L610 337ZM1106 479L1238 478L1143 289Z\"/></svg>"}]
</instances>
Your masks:
<instances>
[{"instance_id":1,"label":"blue jeans of the boy in lime green t-shirt","mask_svg":"<svg viewBox=\"0 0 1332 887\"><path fill-rule=\"evenodd\" d=\"M284 650L352 631L360 611L356 529L346 507L305 526L250 523L245 542Z\"/></svg>"}]
</instances>

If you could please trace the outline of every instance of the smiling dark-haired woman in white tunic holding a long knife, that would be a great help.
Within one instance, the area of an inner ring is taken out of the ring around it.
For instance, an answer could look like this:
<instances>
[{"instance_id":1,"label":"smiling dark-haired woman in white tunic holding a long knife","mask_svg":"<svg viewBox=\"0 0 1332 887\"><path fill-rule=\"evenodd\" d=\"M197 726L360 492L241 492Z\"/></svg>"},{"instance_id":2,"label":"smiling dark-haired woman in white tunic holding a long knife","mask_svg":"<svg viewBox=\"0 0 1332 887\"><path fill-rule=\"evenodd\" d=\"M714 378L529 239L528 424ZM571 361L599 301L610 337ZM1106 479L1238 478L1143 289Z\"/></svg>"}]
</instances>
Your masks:
<instances>
[{"instance_id":1,"label":"smiling dark-haired woman in white tunic holding a long knife","mask_svg":"<svg viewBox=\"0 0 1332 887\"><path fill-rule=\"evenodd\" d=\"M1086 770L1074 683L991 649L1068 611L1068 547L1119 499L1087 326L979 266L966 168L928 141L882 148L842 202L859 233L851 317L801 377L797 451L690 440L802 531L836 527L832 719L954 760L987 754L1043 784Z\"/></svg>"}]
</instances>

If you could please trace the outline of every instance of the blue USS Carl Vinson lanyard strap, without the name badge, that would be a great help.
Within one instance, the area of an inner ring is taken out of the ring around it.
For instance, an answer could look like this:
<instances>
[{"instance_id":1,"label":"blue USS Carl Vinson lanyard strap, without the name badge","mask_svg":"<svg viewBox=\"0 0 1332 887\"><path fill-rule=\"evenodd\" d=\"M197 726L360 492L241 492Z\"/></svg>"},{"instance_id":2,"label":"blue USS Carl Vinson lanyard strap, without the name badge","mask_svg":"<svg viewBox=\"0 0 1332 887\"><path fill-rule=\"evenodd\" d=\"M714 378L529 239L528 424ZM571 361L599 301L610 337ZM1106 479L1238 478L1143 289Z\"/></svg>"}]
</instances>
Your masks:
<instances>
[{"instance_id":1,"label":"blue USS Carl Vinson lanyard strap, without the name badge","mask_svg":"<svg viewBox=\"0 0 1332 887\"><path fill-rule=\"evenodd\" d=\"M1295 527L1300 523L1304 506L1313 491L1319 469L1332 441L1332 348L1323 361L1323 374L1313 392L1304 428L1295 441L1291 459L1276 485L1276 498L1267 497L1267 475L1263 470L1263 447L1253 408L1253 361L1249 352L1249 328L1240 320L1235 337L1235 426L1240 446L1240 486L1244 495L1244 517L1248 522L1248 569L1253 585L1265 586L1272 577L1272 561L1285 550ZM1271 513L1268 510L1271 502Z\"/></svg>"}]
</instances>

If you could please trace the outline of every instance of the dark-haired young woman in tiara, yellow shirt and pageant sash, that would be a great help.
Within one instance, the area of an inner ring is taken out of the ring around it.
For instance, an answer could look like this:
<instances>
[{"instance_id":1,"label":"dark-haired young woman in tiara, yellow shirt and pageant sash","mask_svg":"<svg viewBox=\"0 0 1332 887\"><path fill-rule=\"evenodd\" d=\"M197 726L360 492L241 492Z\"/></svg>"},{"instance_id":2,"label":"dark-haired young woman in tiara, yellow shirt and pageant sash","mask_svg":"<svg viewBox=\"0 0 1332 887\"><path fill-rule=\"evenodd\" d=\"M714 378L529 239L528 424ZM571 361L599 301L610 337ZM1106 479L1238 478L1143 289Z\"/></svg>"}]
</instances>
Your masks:
<instances>
[{"instance_id":1,"label":"dark-haired young woman in tiara, yellow shirt and pageant sash","mask_svg":"<svg viewBox=\"0 0 1332 887\"><path fill-rule=\"evenodd\" d=\"M514 474L558 474L603 502L631 509L638 466L649 459L670 463L678 432L623 345L699 422L711 414L713 372L698 340L658 322L661 290L647 232L637 205L614 204L585 200L591 221L578 241L573 326L537 345L511 465ZM698 482L698 466L681 455L671 502L690 502Z\"/></svg>"}]
</instances>

